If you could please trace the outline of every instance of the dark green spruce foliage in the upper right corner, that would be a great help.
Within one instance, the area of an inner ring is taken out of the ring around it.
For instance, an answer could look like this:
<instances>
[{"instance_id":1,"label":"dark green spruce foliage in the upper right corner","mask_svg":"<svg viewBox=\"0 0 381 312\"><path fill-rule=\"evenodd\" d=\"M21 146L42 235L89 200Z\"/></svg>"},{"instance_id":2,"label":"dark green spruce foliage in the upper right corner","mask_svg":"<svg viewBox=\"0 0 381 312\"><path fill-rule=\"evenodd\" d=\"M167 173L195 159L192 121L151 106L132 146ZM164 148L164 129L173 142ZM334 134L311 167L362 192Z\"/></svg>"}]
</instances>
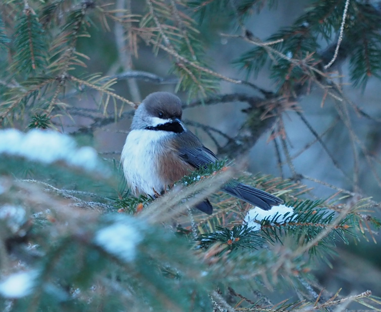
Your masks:
<instances>
[{"instance_id":1,"label":"dark green spruce foliage in the upper right corner","mask_svg":"<svg viewBox=\"0 0 381 312\"><path fill-rule=\"evenodd\" d=\"M335 0L314 1L292 26L284 27L267 38L266 42L282 40L271 45L273 51L266 46L257 46L242 54L235 63L251 75L258 74L269 61L272 78L278 86L287 86L291 90L295 84L308 79L322 79L321 72L313 70L313 67L320 69L317 65L325 61L324 55L317 52L322 49L320 39L327 43L332 41L334 33L340 28L344 5L345 1L340 1L338 5ZM241 9L240 13L243 13L246 8L243 6ZM380 75L380 28L377 26L380 25L380 14L369 4L351 1L347 21L344 38L347 42L359 43L350 52L352 80L355 85L365 86L367 77ZM298 60L298 63L290 59Z\"/></svg>"}]
</instances>

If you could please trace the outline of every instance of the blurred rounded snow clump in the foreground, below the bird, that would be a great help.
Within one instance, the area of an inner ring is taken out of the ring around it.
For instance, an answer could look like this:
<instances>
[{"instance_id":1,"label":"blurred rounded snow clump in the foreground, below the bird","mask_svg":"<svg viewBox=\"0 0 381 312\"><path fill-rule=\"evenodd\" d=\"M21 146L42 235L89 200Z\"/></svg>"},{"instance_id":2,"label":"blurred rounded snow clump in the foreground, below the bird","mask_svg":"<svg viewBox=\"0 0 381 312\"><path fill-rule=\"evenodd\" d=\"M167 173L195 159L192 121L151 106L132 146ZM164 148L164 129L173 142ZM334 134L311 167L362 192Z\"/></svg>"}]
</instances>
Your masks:
<instances>
[{"instance_id":1,"label":"blurred rounded snow clump in the foreground, below the bird","mask_svg":"<svg viewBox=\"0 0 381 312\"><path fill-rule=\"evenodd\" d=\"M104 227L95 234L95 244L127 262L135 259L136 246L142 239L136 227L122 222Z\"/></svg>"}]
</instances>

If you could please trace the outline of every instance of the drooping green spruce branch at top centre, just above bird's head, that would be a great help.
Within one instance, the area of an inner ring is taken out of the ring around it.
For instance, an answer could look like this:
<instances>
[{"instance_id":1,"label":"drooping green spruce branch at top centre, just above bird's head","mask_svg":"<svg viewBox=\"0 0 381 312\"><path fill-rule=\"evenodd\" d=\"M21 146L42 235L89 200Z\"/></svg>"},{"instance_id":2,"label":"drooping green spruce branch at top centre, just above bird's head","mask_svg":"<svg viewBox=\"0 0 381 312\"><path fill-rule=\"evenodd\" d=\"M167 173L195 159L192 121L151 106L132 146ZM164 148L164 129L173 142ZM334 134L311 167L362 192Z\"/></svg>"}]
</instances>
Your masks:
<instances>
[{"instance_id":1,"label":"drooping green spruce branch at top centre, just above bird's head","mask_svg":"<svg viewBox=\"0 0 381 312\"><path fill-rule=\"evenodd\" d=\"M203 48L197 39L199 31L193 26L194 21L181 13L175 2L167 4L163 0L147 0L146 3L149 12L142 19L138 34L144 41L152 44L156 51L164 49L174 56L173 70L180 75L176 90L187 90L189 98L197 93L205 96L207 92L215 90L215 79L209 72L189 66L188 59L191 58L191 64L206 67L202 61Z\"/></svg>"}]
</instances>

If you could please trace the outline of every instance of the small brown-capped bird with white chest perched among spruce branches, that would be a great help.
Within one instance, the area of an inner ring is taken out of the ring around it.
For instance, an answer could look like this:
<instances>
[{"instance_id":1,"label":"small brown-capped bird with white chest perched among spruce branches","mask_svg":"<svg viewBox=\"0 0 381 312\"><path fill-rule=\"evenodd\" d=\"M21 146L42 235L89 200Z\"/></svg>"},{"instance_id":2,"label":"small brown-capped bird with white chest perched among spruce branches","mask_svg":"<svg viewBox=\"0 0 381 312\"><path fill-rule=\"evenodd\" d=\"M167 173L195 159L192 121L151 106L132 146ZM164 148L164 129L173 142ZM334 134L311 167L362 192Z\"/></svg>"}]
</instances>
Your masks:
<instances>
[{"instance_id":1,"label":"small brown-capped bird with white chest perched among spruce branches","mask_svg":"<svg viewBox=\"0 0 381 312\"><path fill-rule=\"evenodd\" d=\"M135 111L121 162L124 176L136 196L163 194L167 185L218 160L184 126L181 116L181 100L169 92L149 94ZM227 183L222 190L263 210L283 203L276 196L238 181ZM208 199L195 207L208 215L213 212Z\"/></svg>"}]
</instances>

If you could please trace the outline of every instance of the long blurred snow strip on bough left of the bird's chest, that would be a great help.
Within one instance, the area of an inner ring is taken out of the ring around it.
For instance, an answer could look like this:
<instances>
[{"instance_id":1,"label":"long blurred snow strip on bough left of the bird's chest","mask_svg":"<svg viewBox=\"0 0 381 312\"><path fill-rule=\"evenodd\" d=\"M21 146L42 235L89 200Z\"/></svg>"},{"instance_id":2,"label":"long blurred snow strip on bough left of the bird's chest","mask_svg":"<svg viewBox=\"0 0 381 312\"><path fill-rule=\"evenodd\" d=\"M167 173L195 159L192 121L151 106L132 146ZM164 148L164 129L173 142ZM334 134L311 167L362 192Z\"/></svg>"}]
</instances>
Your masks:
<instances>
[{"instance_id":1,"label":"long blurred snow strip on bough left of the bird's chest","mask_svg":"<svg viewBox=\"0 0 381 312\"><path fill-rule=\"evenodd\" d=\"M25 157L32 161L64 161L89 171L102 167L92 147L78 148L75 140L56 131L34 129L24 134L16 129L0 130L0 154Z\"/></svg>"}]
</instances>

